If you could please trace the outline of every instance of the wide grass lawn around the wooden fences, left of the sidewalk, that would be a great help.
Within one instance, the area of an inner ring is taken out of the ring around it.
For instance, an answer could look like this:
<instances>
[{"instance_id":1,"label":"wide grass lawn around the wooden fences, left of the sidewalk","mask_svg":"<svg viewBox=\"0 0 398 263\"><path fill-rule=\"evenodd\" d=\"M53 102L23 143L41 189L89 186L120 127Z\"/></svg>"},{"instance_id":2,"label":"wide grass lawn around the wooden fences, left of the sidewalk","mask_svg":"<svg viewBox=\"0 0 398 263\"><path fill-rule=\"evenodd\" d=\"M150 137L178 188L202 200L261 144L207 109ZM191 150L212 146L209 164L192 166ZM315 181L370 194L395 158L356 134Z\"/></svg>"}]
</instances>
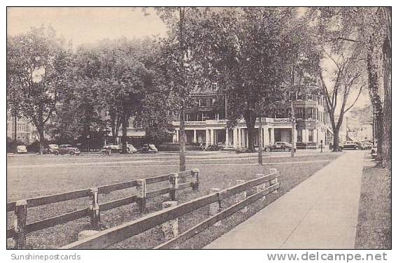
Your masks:
<instances>
[{"instance_id":1,"label":"wide grass lawn around the wooden fences, left of the sidewalk","mask_svg":"<svg viewBox=\"0 0 398 263\"><path fill-rule=\"evenodd\" d=\"M255 178L255 173L268 173L270 168L276 168L281 171L281 188L278 194L271 194L271 197L267 198L266 204L269 204L271 201L289 192L293 187L311 176L315 171L318 171L340 155L341 153L325 153L311 157L269 158L264 159L264 166L255 165L255 159L247 159L246 162L242 163L239 163L239 160L228 158L215 159L213 161L197 160L187 162L187 169L199 168L201 171L200 189L197 193L192 193L190 190L178 192L177 199L179 202L188 201L210 193L211 188L218 187L224 189L236 185L236 180L250 180ZM136 178L159 176L178 169L177 160L173 161L169 166L162 166L162 164L163 162L160 162L157 166L123 166L115 164L114 166L103 167L101 165L71 166L59 167L57 169L43 167L13 168L8 171L7 197L8 201L37 197L45 194L55 194L93 186L107 185L110 183L118 183L126 180L134 180ZM127 197L130 194L134 194L134 189L131 188L111 192L109 194L101 194L99 196L99 201L103 203ZM147 202L147 213L161 209L162 201L167 201L167 199L168 196L164 195L149 200ZM229 204L232 204L233 201L233 199L226 200L225 206L227 207ZM78 208L85 208L88 206L89 202L88 198L83 198L29 208L27 222L49 218L50 216L59 215ZM181 244L180 248L202 248L206 246L218 236L246 220L248 216L260 211L266 204L263 204L261 201L255 202L249 206L247 214L236 213L232 215L223 220L224 222L221 227L210 227L205 232ZM12 215L12 213L8 213L8 227L10 227L10 215ZM104 227L114 227L123 222L134 220L139 216L138 206L136 206L136 204L130 204L102 212L101 223ZM179 230L183 232L206 218L208 218L208 207L183 215L178 218ZM29 248L58 248L76 241L78 233L88 227L88 218L81 218L63 225L33 232L27 234L27 246ZM159 227L155 227L143 234L138 234L137 236L122 241L111 248L152 248L162 242L164 242L164 236Z\"/></svg>"}]
</instances>

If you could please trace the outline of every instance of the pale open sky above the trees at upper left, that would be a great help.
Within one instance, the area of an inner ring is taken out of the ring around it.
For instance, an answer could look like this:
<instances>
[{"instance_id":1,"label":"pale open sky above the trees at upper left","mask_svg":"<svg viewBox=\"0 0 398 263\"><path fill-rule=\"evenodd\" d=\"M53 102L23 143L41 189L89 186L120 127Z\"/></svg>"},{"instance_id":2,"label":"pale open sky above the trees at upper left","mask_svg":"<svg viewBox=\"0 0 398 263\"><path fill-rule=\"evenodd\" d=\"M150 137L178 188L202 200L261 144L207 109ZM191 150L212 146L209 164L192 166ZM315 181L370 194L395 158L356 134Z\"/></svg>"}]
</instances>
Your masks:
<instances>
[{"instance_id":1,"label":"pale open sky above the trees at upper left","mask_svg":"<svg viewBox=\"0 0 398 263\"><path fill-rule=\"evenodd\" d=\"M31 27L52 25L57 34L73 45L94 43L103 38L140 38L166 34L166 27L154 10L144 15L141 8L7 8L7 33L21 34Z\"/></svg>"}]
</instances>

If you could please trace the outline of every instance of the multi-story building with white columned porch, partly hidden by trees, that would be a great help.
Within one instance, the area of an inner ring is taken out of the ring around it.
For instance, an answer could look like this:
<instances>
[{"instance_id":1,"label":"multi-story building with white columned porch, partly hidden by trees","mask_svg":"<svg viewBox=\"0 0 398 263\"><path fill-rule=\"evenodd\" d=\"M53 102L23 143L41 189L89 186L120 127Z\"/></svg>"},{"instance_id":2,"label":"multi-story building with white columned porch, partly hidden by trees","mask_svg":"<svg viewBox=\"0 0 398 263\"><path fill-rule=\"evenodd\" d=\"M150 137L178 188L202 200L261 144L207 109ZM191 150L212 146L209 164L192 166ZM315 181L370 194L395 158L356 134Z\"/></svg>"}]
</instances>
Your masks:
<instances>
[{"instance_id":1,"label":"multi-story building with white columned porch, partly hidden by trees","mask_svg":"<svg viewBox=\"0 0 398 263\"><path fill-rule=\"evenodd\" d=\"M291 96L288 96L292 98ZM227 128L225 105L227 99L217 85L206 90L195 90L191 94L194 106L185 111L185 134L187 144L206 143L214 145L222 143L234 148L248 147L248 131L243 118L233 129ZM293 97L293 107L297 119L297 148L317 148L320 141L325 145L332 141L333 132L330 129L329 116L325 111L325 101L321 95ZM228 104L227 104L228 107ZM280 108L262 121L262 141L264 145L276 141L292 141L291 101L286 99L280 103ZM173 142L179 138L179 118L173 120ZM255 123L255 146L259 141L259 122Z\"/></svg>"}]
</instances>

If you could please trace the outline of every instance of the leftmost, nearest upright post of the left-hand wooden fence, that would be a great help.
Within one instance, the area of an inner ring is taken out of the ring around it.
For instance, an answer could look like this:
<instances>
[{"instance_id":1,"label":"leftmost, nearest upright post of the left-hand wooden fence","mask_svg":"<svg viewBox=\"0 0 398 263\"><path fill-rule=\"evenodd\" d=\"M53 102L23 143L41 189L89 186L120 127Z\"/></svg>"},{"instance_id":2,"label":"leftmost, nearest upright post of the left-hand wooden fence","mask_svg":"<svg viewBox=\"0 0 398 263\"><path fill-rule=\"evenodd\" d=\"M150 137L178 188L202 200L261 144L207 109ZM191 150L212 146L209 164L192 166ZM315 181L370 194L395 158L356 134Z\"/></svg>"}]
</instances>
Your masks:
<instances>
[{"instance_id":1,"label":"leftmost, nearest upright post of the left-hand wooden fence","mask_svg":"<svg viewBox=\"0 0 398 263\"><path fill-rule=\"evenodd\" d=\"M22 249L26 245L25 226L27 225L27 201L20 200L15 202L14 227L14 248Z\"/></svg>"}]
</instances>

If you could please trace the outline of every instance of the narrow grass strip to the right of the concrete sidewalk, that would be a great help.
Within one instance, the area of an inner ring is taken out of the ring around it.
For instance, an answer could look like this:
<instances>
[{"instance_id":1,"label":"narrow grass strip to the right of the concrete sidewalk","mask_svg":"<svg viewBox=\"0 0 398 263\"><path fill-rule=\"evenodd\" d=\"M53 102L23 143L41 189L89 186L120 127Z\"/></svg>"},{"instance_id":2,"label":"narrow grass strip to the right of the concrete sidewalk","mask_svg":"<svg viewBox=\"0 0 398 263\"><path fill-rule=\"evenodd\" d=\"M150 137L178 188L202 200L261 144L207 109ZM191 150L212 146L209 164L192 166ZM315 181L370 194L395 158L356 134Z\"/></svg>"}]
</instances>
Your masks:
<instances>
[{"instance_id":1,"label":"narrow grass strip to the right of the concrete sidewalk","mask_svg":"<svg viewBox=\"0 0 398 263\"><path fill-rule=\"evenodd\" d=\"M391 171L364 167L355 248L391 249Z\"/></svg>"}]
</instances>

